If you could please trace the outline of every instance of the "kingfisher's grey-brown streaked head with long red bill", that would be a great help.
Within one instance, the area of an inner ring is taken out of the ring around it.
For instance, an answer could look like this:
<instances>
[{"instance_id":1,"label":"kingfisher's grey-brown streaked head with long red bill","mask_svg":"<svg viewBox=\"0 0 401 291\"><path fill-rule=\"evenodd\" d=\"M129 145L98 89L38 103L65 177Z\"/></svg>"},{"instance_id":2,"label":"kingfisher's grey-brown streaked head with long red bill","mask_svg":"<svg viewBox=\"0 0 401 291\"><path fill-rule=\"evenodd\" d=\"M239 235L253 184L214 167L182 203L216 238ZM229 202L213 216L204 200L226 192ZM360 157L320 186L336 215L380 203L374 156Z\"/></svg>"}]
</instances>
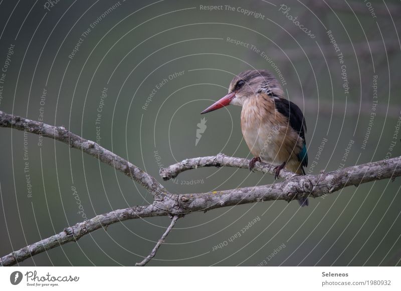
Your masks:
<instances>
[{"instance_id":1,"label":"kingfisher's grey-brown streaked head with long red bill","mask_svg":"<svg viewBox=\"0 0 401 291\"><path fill-rule=\"evenodd\" d=\"M247 99L257 97L260 93L265 93L272 98L284 95L279 82L268 70L243 71L231 81L229 93L200 114L208 113L230 104L242 106Z\"/></svg>"}]
</instances>

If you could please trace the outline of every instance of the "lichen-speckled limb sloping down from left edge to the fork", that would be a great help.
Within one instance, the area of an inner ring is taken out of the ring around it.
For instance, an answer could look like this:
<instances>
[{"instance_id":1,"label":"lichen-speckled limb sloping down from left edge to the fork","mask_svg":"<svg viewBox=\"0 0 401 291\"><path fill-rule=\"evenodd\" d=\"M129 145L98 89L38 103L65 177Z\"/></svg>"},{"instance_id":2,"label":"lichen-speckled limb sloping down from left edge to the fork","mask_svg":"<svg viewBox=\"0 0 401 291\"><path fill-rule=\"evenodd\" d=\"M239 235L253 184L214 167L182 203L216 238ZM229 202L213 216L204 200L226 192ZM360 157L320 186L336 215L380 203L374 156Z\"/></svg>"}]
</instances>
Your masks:
<instances>
[{"instance_id":1,"label":"lichen-speckled limb sloping down from left edge to the fork","mask_svg":"<svg viewBox=\"0 0 401 291\"><path fill-rule=\"evenodd\" d=\"M123 172L127 176L131 177L134 181L140 183L153 195L162 195L168 193L168 191L154 177L144 172L136 165L100 146L96 142L87 140L70 132L64 126L56 127L43 122L34 121L0 111L0 127L11 127L23 131L25 130L67 143L69 146L81 149L85 153L88 153L98 158L102 162L111 165L116 170Z\"/></svg>"}]
</instances>

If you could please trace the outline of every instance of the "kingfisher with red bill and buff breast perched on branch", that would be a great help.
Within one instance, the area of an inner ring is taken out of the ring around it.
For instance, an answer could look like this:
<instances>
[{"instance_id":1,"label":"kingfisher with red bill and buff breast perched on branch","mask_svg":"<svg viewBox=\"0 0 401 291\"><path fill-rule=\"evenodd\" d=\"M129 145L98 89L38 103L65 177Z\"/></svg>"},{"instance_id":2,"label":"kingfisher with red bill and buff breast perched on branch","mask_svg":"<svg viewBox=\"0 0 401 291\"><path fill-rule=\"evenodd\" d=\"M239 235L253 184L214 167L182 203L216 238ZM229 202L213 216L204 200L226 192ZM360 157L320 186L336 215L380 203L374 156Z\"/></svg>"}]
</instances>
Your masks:
<instances>
[{"instance_id":1,"label":"kingfisher with red bill and buff breast perched on branch","mask_svg":"<svg viewBox=\"0 0 401 291\"><path fill-rule=\"evenodd\" d=\"M304 175L308 166L306 121L302 110L284 96L284 91L266 69L246 70L235 75L226 96L201 112L205 114L230 104L242 106L241 130L253 158L275 165L275 179L283 168ZM307 197L298 197L301 206Z\"/></svg>"}]
</instances>

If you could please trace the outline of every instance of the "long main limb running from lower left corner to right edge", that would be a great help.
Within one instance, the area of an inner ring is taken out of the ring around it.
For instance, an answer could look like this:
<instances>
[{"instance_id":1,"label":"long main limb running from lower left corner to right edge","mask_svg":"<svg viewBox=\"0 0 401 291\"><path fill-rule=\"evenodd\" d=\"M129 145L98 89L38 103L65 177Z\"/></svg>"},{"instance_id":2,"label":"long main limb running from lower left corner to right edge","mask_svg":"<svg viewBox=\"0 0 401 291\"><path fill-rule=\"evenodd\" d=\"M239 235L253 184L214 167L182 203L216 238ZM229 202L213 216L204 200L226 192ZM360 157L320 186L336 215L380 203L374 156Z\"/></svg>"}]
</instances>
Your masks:
<instances>
[{"instance_id":1,"label":"long main limb running from lower left corner to right edge","mask_svg":"<svg viewBox=\"0 0 401 291\"><path fill-rule=\"evenodd\" d=\"M199 157L198 159L203 158ZM228 160L237 159L239 158L226 156L225 163L229 165L230 162ZM165 216L169 213L182 215L195 211L207 211L226 206L254 203L257 201L291 201L300 196L319 197L350 185L357 186L361 183L384 178L392 179L401 175L400 160L401 156L388 160L351 166L342 170L318 175L293 175L286 181L270 185L243 187L208 193L171 194L170 196L162 197L160 200L155 199L152 205L115 210L77 223L75 226L66 228L63 232L0 258L0 263L2 265L16 264L32 255L44 252L47 249L54 248L69 241L76 241L81 236L99 229L102 226L107 226L126 219Z\"/></svg>"}]
</instances>

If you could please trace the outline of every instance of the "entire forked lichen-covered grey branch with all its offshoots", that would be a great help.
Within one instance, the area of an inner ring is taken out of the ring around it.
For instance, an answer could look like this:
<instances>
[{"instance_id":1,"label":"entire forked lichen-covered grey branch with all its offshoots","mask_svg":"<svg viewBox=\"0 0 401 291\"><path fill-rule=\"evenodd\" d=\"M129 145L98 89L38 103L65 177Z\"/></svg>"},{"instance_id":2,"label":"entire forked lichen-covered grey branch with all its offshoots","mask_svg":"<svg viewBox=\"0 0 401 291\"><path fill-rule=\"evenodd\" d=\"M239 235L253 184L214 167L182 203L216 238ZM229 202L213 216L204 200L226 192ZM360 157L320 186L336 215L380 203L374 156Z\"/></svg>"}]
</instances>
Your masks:
<instances>
[{"instance_id":1,"label":"entire forked lichen-covered grey branch with all its offshoots","mask_svg":"<svg viewBox=\"0 0 401 291\"><path fill-rule=\"evenodd\" d=\"M128 175L133 180L145 187L153 196L154 201L150 205L134 206L126 209L114 210L105 214L97 215L91 219L79 222L74 226L65 228L62 232L42 239L20 250L13 251L0 257L0 264L3 266L14 265L35 254L45 252L48 249L60 246L70 241L77 241L80 237L99 228L121 222L127 219L170 216L172 221L158 240L156 246L144 260L137 265L145 265L154 257L157 249L171 231L176 220L185 214L208 211L211 209L235 206L245 203L254 203L268 200L291 201L300 197L319 197L333 193L343 187L373 180L385 178L394 179L401 175L401 156L387 160L369 162L356 166L350 166L341 170L321 172L317 175L296 175L289 171L282 170L280 176L285 180L269 185L243 187L230 190L213 191L207 193L169 193L154 177L129 161L115 153L101 147L97 143L84 139L69 132L63 126L52 126L46 123L31 119L14 116L0 111L0 127L11 127L31 133L42 134L50 138L69 144L71 147L81 149L99 160L111 165L115 169ZM216 156L188 158L167 168L162 168L160 174L164 180L176 176L188 169L208 166L232 166L248 168L250 160L238 157L231 157L224 154ZM257 162L256 170L263 173L274 174L272 165Z\"/></svg>"}]
</instances>

